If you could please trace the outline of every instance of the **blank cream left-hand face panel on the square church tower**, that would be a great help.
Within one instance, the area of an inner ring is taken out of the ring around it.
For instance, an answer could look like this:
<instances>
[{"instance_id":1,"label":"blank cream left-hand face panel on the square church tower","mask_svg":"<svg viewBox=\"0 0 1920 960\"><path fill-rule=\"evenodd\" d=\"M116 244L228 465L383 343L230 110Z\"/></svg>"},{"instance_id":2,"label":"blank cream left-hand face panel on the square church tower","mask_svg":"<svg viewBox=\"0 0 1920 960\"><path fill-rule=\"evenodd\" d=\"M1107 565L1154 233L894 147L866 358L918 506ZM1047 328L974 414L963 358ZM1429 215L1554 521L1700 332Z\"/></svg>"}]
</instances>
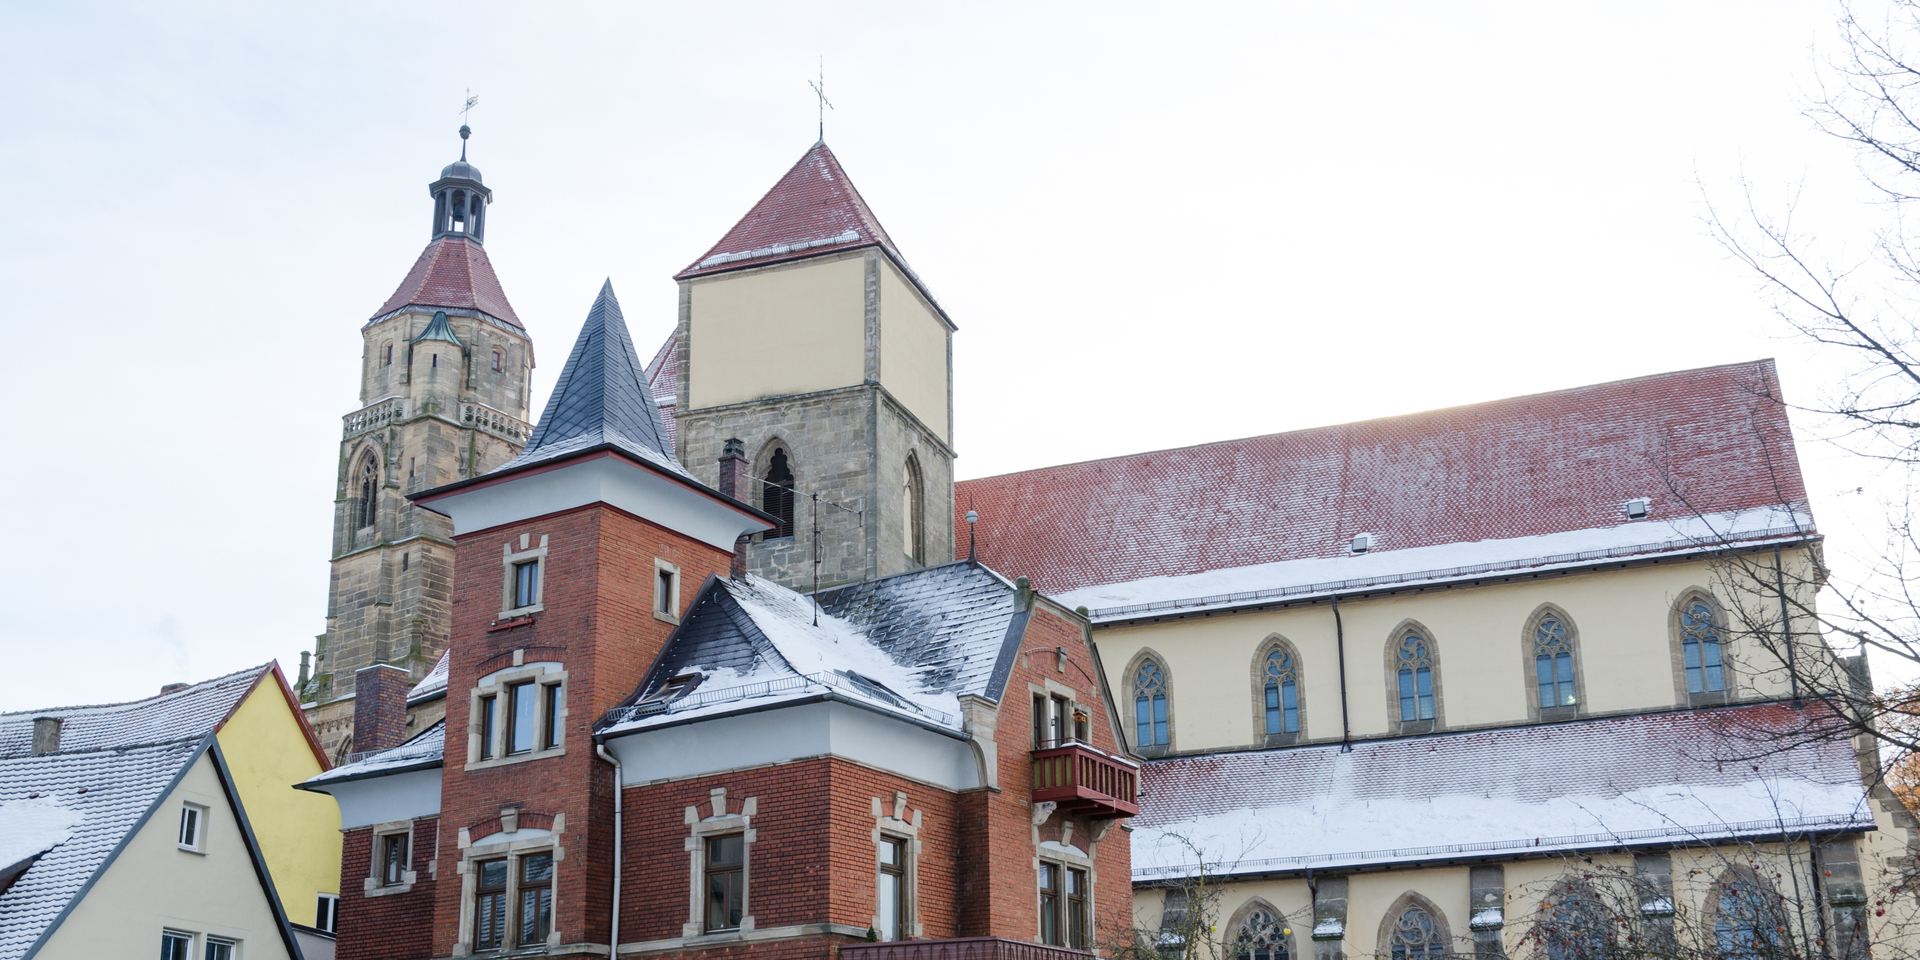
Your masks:
<instances>
[{"instance_id":1,"label":"blank cream left-hand face panel on the square church tower","mask_svg":"<svg viewBox=\"0 0 1920 960\"><path fill-rule=\"evenodd\" d=\"M693 409L866 380L866 267L858 255L697 280L691 298L680 374Z\"/></svg>"}]
</instances>

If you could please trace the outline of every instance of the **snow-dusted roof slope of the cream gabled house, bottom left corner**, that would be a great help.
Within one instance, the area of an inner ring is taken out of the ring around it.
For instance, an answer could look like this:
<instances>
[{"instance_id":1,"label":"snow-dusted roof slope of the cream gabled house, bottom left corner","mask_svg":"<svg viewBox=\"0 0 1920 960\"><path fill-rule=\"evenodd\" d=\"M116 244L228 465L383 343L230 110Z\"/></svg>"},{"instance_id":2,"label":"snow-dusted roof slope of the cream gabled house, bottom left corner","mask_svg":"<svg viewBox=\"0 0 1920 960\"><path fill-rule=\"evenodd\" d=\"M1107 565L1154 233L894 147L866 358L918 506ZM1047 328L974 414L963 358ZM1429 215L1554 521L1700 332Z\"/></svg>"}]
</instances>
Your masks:
<instances>
[{"instance_id":1,"label":"snow-dusted roof slope of the cream gabled house, bottom left corner","mask_svg":"<svg viewBox=\"0 0 1920 960\"><path fill-rule=\"evenodd\" d=\"M0 960L25 956L121 839L165 797L180 770L200 756L204 743L204 737L194 737L152 747L0 758L0 833L10 833L13 818L21 818L38 824L40 839L48 839L50 824L60 816L48 806L56 804L73 818L63 828L67 837L50 845L0 893ZM35 801L44 806L15 812L17 804Z\"/></svg>"}]
</instances>

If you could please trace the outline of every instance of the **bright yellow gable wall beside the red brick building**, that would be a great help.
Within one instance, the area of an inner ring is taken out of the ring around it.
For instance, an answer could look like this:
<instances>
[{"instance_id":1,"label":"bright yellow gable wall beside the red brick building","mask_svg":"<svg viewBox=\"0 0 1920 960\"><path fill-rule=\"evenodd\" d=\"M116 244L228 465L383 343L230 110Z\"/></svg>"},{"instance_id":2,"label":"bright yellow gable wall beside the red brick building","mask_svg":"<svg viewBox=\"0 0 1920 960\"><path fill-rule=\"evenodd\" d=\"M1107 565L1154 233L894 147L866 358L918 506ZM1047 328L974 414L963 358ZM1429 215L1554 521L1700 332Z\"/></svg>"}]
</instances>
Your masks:
<instances>
[{"instance_id":1,"label":"bright yellow gable wall beside the red brick building","mask_svg":"<svg viewBox=\"0 0 1920 960\"><path fill-rule=\"evenodd\" d=\"M340 808L294 789L319 776L321 762L273 678L240 703L219 741L280 904L288 920L311 925L319 895L340 893Z\"/></svg>"}]
</instances>

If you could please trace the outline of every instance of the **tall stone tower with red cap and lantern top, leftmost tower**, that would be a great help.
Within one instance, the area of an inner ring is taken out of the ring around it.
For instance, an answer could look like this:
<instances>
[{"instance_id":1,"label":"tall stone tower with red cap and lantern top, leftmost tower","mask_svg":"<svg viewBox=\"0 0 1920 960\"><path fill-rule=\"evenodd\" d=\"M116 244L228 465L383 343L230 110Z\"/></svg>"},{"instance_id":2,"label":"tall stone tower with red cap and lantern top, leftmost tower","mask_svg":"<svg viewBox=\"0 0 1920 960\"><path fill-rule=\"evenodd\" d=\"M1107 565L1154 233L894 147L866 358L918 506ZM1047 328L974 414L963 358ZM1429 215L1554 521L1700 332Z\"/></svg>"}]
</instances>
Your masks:
<instances>
[{"instance_id":1,"label":"tall stone tower with red cap and lantern top, leftmost tower","mask_svg":"<svg viewBox=\"0 0 1920 960\"><path fill-rule=\"evenodd\" d=\"M447 645L453 532L407 493L511 461L532 430L534 344L482 246L493 192L465 144L428 194L432 240L361 326L361 407L340 440L326 634L301 684L336 758L351 751L353 672L392 664L419 680Z\"/></svg>"}]
</instances>

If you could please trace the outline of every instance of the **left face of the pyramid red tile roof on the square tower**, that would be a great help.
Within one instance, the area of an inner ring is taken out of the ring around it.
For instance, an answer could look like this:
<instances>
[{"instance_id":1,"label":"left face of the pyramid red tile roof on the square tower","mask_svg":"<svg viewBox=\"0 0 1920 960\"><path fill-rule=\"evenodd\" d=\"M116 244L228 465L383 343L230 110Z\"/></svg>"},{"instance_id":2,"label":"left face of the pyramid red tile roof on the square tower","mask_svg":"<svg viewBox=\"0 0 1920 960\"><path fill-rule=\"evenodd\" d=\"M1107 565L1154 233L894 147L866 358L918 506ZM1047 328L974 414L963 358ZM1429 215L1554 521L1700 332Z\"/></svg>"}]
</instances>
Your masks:
<instances>
[{"instance_id":1,"label":"left face of the pyramid red tile roof on the square tower","mask_svg":"<svg viewBox=\"0 0 1920 960\"><path fill-rule=\"evenodd\" d=\"M828 144L814 144L739 223L674 280L862 246L893 246Z\"/></svg>"}]
</instances>

